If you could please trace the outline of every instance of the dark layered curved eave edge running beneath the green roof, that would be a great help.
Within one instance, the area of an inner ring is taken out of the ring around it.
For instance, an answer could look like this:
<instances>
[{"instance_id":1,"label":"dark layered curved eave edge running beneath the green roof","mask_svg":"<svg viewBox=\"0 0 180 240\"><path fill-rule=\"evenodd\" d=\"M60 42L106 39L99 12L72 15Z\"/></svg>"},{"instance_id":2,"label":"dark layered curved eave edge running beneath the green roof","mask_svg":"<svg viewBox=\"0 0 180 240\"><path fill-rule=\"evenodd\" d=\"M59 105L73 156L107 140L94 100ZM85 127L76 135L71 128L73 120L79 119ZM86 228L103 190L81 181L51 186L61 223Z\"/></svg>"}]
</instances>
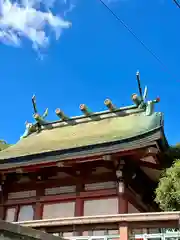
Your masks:
<instances>
[{"instance_id":1,"label":"dark layered curved eave edge running beneath the green roof","mask_svg":"<svg viewBox=\"0 0 180 240\"><path fill-rule=\"evenodd\" d=\"M20 158L4 159L1 160L0 170L28 167L31 165L38 165L42 163L49 164L52 162L59 162L61 160L68 161L84 157L98 157L117 152L121 153L131 150L138 150L155 145L158 140L160 140L161 142L164 141L164 139L161 139L162 131L162 127L159 127L144 134L141 134L141 136L136 136L129 139L95 144L86 147L45 152Z\"/></svg>"}]
</instances>

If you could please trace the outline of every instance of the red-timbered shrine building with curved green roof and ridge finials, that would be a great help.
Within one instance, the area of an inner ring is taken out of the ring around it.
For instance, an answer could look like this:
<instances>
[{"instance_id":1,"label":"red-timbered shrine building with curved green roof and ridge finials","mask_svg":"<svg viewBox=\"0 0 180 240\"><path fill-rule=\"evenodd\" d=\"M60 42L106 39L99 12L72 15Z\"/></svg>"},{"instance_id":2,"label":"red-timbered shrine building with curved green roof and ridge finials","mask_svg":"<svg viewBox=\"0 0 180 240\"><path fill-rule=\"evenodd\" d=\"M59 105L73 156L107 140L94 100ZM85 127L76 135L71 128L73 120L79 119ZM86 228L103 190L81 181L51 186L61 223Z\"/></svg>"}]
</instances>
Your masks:
<instances>
[{"instance_id":1,"label":"red-timbered shrine building with curved green roof and ridge finials","mask_svg":"<svg viewBox=\"0 0 180 240\"><path fill-rule=\"evenodd\" d=\"M159 211L154 191L167 165L164 117L155 112L159 98L133 94L133 105L106 111L80 105L82 115L56 109L57 120L40 115L32 98L34 123L26 122L20 140L0 152L0 217L24 222L80 216ZM106 229L72 227L52 230L62 236Z\"/></svg>"}]
</instances>

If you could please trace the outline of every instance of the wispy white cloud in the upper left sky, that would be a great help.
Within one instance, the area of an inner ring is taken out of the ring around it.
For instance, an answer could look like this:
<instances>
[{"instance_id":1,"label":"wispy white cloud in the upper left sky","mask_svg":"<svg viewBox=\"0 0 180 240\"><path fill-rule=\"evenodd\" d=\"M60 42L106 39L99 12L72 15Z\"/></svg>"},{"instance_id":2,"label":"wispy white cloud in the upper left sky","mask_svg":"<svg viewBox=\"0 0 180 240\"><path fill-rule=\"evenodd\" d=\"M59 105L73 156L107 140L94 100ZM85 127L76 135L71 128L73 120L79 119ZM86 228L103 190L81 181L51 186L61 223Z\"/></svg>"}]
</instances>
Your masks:
<instances>
[{"instance_id":1,"label":"wispy white cloud in the upper left sky","mask_svg":"<svg viewBox=\"0 0 180 240\"><path fill-rule=\"evenodd\" d=\"M40 9L40 4L45 11ZM69 28L71 23L52 13L54 4L55 0L21 0L20 3L0 0L0 41L21 46L26 38L34 49L39 49L49 44L51 32L59 39L62 29Z\"/></svg>"}]
</instances>

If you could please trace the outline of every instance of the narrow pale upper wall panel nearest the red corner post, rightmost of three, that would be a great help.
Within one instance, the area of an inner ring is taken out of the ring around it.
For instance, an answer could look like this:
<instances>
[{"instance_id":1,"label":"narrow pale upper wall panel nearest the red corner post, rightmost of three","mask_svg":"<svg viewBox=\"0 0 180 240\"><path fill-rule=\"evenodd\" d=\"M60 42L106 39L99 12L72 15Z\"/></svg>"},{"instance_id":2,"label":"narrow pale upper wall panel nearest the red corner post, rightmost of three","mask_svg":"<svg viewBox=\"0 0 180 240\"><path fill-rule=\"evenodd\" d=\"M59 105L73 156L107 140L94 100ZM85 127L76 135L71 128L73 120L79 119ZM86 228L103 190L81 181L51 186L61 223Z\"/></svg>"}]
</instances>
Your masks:
<instances>
[{"instance_id":1,"label":"narrow pale upper wall panel nearest the red corner post, rightmost of three","mask_svg":"<svg viewBox=\"0 0 180 240\"><path fill-rule=\"evenodd\" d=\"M100 183L90 183L85 184L85 191L103 190L103 189L113 189L116 188L116 182L100 182Z\"/></svg>"}]
</instances>

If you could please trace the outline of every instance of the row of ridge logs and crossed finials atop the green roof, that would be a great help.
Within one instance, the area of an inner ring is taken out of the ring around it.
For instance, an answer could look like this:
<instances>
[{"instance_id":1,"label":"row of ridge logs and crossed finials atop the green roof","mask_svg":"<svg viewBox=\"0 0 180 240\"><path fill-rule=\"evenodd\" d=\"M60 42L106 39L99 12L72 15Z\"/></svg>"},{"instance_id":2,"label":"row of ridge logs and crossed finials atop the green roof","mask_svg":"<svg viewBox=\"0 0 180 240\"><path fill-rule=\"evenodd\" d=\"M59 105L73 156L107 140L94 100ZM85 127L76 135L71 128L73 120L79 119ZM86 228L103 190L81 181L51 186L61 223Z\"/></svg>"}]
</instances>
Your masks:
<instances>
[{"instance_id":1,"label":"row of ridge logs and crossed finials atop the green roof","mask_svg":"<svg viewBox=\"0 0 180 240\"><path fill-rule=\"evenodd\" d=\"M154 113L154 104L158 103L160 101L160 99L157 97L155 100L147 101L146 98L147 98L147 94L148 94L148 88L146 86L144 89L144 93L142 92L139 71L137 71L137 73L136 73L136 79L137 79L137 84L138 84L138 89L139 89L139 95L137 93L132 94L131 98L132 98L132 101L134 102L134 105L123 107L123 108L117 108L110 99L106 99L104 101L104 104L106 105L106 107L109 110L109 111L106 111L106 113L109 112L109 113L116 114L116 113L120 113L122 111L125 112L127 110L128 111L130 110L131 113L133 113L135 109L136 110L140 109L141 112L144 112L144 114L146 116L150 116ZM29 123L29 122L25 123L26 130L21 138L26 138L27 136L29 136L30 134L32 134L34 132L40 132L42 127L43 128L49 128L49 126L51 126L52 128L54 127L54 125L53 125L54 122L47 122L45 120L45 118L48 115L48 108L44 111L44 113L42 115L38 112L35 95L33 95L33 97L32 97L32 105L33 105L34 123ZM66 122L66 124L70 123L72 121L73 121L73 123L78 124L81 121L77 121L77 119L84 118L84 117L90 117L89 121L93 121L95 119L95 118L93 118L93 116L95 116L97 114L100 115L101 113L103 113L103 112L98 112L98 113L92 112L85 104L80 104L79 108L84 116L70 118L69 116L64 114L64 112L59 108L56 109L55 113L61 119L61 122ZM96 120L97 120L97 118L96 118Z\"/></svg>"}]
</instances>

